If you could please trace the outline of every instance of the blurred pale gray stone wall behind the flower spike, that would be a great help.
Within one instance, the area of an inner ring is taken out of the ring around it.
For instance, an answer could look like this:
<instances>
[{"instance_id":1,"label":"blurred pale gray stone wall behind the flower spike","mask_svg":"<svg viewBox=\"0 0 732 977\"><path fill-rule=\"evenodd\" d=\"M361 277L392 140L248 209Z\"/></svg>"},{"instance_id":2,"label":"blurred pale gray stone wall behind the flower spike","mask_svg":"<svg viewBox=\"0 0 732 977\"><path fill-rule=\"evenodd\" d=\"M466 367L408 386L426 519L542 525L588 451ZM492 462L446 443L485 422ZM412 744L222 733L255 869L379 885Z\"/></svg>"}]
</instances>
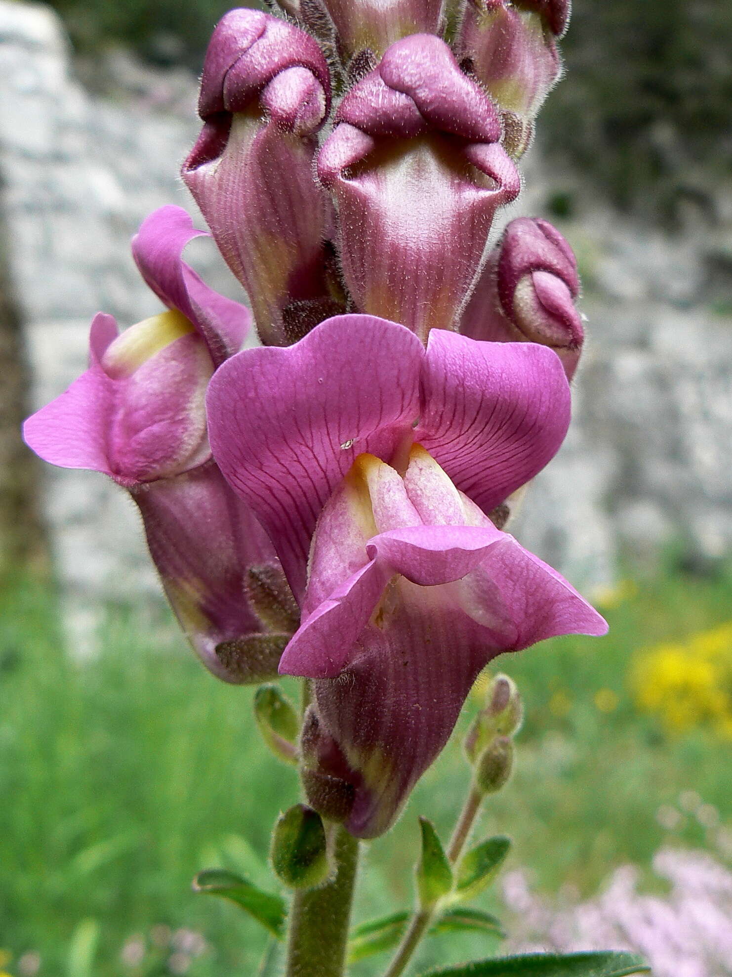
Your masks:
<instances>
[{"instance_id":1,"label":"blurred pale gray stone wall behind the flower spike","mask_svg":"<svg viewBox=\"0 0 732 977\"><path fill-rule=\"evenodd\" d=\"M116 101L91 96L55 16L0 0L0 205L38 405L84 368L95 312L124 326L159 308L129 239L157 206L192 208L177 171L198 128L195 79L139 74ZM507 220L544 209L550 185L536 149L527 170ZM570 437L526 493L514 531L588 592L612 582L627 543L647 552L680 535L710 557L732 547L730 227L722 214L715 236L692 229L674 241L591 209L561 226L585 273L590 340ZM237 294L212 248L191 251L215 287ZM156 594L124 493L92 473L48 468L44 479L77 630L102 598Z\"/></svg>"}]
</instances>

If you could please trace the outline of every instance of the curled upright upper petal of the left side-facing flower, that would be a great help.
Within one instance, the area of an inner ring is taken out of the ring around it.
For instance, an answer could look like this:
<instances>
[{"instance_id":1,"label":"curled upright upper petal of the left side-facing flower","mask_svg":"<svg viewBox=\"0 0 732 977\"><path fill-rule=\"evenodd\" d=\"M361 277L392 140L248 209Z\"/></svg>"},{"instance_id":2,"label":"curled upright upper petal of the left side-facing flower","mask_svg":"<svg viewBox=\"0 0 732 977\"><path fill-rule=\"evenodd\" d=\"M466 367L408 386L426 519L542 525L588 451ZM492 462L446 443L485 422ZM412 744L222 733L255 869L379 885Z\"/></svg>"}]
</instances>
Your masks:
<instances>
[{"instance_id":1,"label":"curled upright upper petal of the left side-facing flower","mask_svg":"<svg viewBox=\"0 0 732 977\"><path fill-rule=\"evenodd\" d=\"M183 248L196 231L183 207L160 207L147 217L132 239L132 253L141 275L169 309L178 309L206 341L218 366L241 349L252 324L246 306L224 298L182 260Z\"/></svg>"}]
</instances>

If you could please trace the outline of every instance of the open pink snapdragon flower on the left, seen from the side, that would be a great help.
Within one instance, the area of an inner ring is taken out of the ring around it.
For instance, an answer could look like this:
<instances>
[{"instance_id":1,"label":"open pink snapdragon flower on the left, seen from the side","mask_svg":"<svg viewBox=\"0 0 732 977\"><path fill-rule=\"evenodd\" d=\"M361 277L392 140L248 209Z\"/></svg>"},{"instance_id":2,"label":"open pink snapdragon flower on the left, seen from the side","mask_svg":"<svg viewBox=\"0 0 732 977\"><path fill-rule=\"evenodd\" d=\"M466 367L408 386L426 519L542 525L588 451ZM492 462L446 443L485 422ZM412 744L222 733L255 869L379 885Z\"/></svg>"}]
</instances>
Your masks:
<instances>
[{"instance_id":1,"label":"open pink snapdragon flower on the left, seen from the side","mask_svg":"<svg viewBox=\"0 0 732 977\"><path fill-rule=\"evenodd\" d=\"M213 460L204 410L208 383L240 349L251 313L183 262L200 234L180 207L144 221L133 253L168 311L121 334L111 316L96 316L89 368L23 434L44 460L103 472L129 490L195 651L225 681L255 681L276 673L288 636L268 633L245 595L250 573L276 576L278 565ZM282 594L286 604L284 581Z\"/></svg>"}]
</instances>

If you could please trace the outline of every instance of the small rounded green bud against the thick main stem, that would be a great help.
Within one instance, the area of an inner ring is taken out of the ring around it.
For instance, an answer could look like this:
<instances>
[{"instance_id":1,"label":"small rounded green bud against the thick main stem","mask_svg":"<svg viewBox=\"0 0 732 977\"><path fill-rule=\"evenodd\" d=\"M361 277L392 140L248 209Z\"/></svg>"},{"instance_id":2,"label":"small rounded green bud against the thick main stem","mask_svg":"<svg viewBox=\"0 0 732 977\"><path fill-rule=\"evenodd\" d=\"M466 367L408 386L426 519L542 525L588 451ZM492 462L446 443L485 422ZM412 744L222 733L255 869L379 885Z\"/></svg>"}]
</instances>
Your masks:
<instances>
[{"instance_id":1,"label":"small rounded green bud against the thick main stem","mask_svg":"<svg viewBox=\"0 0 732 977\"><path fill-rule=\"evenodd\" d=\"M272 832L272 868L291 889L312 889L329 875L325 829L319 814L295 804Z\"/></svg>"}]
</instances>

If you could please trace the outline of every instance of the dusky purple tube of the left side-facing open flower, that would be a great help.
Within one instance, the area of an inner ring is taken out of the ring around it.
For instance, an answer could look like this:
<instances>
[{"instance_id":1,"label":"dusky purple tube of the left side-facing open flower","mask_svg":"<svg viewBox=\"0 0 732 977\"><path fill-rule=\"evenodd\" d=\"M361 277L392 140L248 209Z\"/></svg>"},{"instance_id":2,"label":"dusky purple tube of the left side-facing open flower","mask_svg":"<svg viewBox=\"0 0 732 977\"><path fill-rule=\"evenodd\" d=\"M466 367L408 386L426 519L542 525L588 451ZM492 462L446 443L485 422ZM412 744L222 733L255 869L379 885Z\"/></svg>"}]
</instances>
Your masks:
<instances>
[{"instance_id":1,"label":"dusky purple tube of the left side-facing open flower","mask_svg":"<svg viewBox=\"0 0 732 977\"><path fill-rule=\"evenodd\" d=\"M259 638L262 621L245 598L251 566L276 563L266 533L210 462L133 491L150 555L183 632L204 664L226 682L264 681L277 672L281 641L253 641L251 675L232 671L217 647ZM268 656L256 659L257 650Z\"/></svg>"}]
</instances>

